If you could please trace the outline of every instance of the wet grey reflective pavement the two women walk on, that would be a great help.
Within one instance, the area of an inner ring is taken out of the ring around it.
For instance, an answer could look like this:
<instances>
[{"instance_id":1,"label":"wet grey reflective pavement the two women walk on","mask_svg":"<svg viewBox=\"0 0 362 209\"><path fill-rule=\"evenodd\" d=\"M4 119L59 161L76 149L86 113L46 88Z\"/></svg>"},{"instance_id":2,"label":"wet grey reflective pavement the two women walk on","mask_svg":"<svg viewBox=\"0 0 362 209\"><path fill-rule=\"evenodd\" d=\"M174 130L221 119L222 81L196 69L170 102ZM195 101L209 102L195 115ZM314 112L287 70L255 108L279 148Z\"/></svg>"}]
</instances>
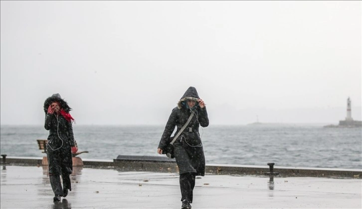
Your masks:
<instances>
[{"instance_id":1,"label":"wet grey reflective pavement the two women walk on","mask_svg":"<svg viewBox=\"0 0 362 209\"><path fill-rule=\"evenodd\" d=\"M2 166L1 209L180 209L177 173L74 167L60 203L46 166ZM206 175L196 179L192 209L362 208L362 179Z\"/></svg>"}]
</instances>

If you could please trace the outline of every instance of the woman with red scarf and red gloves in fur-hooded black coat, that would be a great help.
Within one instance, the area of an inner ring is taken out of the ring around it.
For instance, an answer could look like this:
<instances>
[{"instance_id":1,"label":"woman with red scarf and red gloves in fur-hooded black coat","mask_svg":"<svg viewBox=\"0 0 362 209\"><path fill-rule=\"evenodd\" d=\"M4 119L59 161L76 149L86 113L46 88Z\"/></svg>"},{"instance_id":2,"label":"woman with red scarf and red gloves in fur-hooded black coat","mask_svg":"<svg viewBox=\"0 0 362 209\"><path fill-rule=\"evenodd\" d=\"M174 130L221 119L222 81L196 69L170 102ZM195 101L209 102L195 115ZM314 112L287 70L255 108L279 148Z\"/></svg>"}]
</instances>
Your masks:
<instances>
[{"instance_id":1,"label":"woman with red scarf and red gloves in fur-hooded black coat","mask_svg":"<svg viewBox=\"0 0 362 209\"><path fill-rule=\"evenodd\" d=\"M49 130L46 154L49 162L50 185L54 192L54 201L66 197L68 190L72 191L69 175L73 170L72 153L77 152L75 147L72 121L69 114L71 108L59 94L53 94L44 102L46 130ZM63 180L63 188L60 182Z\"/></svg>"}]
</instances>

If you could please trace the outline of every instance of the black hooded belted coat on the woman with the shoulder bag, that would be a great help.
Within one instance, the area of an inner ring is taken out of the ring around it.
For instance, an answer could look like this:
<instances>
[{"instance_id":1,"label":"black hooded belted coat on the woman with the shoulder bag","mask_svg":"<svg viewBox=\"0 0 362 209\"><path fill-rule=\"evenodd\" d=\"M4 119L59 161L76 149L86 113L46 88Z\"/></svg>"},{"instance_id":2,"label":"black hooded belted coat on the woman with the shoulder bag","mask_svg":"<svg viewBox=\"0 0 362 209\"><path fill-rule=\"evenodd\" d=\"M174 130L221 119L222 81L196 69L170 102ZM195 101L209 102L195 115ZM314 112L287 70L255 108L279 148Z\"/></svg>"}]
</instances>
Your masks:
<instances>
[{"instance_id":1,"label":"black hooded belted coat on the woman with the shoulder bag","mask_svg":"<svg viewBox=\"0 0 362 209\"><path fill-rule=\"evenodd\" d=\"M177 126L176 135L183 124L186 123L191 111L193 111L195 114L191 121L174 142L174 155L180 174L195 173L196 176L204 176L205 156L198 128L200 125L202 127L208 126L209 121L206 107L201 108L198 106L198 99L200 98L198 97L196 89L189 87L181 97L178 106L171 112L161 137L159 148L164 149L164 147L171 142L170 136L174 132L175 126ZM186 100L194 100L196 101L196 105L190 109L186 104Z\"/></svg>"}]
</instances>

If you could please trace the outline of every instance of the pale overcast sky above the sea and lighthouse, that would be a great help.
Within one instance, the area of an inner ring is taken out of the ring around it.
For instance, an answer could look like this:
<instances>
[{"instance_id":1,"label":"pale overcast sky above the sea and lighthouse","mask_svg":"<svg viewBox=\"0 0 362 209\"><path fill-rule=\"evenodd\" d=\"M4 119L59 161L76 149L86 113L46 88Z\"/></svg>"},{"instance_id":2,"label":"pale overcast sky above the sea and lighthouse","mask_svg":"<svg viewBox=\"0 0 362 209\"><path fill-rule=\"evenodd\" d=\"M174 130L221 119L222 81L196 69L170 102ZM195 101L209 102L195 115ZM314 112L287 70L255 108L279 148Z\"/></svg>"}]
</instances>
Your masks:
<instances>
[{"instance_id":1,"label":"pale overcast sky above the sea and lighthouse","mask_svg":"<svg viewBox=\"0 0 362 209\"><path fill-rule=\"evenodd\" d=\"M361 1L0 1L1 124L165 125L189 86L210 124L361 120Z\"/></svg>"}]
</instances>

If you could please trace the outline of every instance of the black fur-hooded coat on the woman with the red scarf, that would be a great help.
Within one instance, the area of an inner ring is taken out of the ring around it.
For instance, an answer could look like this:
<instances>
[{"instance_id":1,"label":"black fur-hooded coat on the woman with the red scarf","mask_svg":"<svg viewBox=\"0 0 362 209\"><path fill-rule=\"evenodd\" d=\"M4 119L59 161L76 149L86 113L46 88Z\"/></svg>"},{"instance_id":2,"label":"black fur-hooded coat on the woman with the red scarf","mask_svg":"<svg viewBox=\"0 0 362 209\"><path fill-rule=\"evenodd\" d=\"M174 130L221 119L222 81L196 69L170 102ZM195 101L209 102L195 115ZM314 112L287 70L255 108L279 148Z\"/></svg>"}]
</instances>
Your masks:
<instances>
[{"instance_id":1,"label":"black fur-hooded coat on the woman with the red scarf","mask_svg":"<svg viewBox=\"0 0 362 209\"><path fill-rule=\"evenodd\" d=\"M71 147L75 146L73 127L71 121L67 121L61 114L47 113L51 103L58 102L65 112L71 108L59 94L53 94L44 102L46 130L49 130L47 143L47 157L49 163L49 175L71 174L73 170ZM69 185L70 187L70 185ZM71 190L71 188L69 188Z\"/></svg>"}]
</instances>

